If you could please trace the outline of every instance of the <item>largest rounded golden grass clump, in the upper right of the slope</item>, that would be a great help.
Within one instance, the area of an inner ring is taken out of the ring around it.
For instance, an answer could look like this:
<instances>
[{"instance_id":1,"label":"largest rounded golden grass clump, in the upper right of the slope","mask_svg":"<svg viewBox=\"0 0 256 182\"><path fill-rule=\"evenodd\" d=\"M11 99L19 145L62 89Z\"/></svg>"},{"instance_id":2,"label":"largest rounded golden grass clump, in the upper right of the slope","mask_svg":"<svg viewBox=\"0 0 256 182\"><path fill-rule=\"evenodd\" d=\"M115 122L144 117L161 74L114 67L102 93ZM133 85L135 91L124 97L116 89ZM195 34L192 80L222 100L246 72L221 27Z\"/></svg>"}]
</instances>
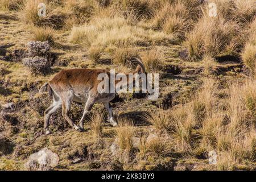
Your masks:
<instances>
[{"instance_id":1,"label":"largest rounded golden grass clump, in the upper right of the slope","mask_svg":"<svg viewBox=\"0 0 256 182\"><path fill-rule=\"evenodd\" d=\"M226 54L237 54L242 46L241 30L235 22L221 16L209 18L204 16L189 32L185 46L190 60L202 59L204 54L217 57Z\"/></svg>"}]
</instances>

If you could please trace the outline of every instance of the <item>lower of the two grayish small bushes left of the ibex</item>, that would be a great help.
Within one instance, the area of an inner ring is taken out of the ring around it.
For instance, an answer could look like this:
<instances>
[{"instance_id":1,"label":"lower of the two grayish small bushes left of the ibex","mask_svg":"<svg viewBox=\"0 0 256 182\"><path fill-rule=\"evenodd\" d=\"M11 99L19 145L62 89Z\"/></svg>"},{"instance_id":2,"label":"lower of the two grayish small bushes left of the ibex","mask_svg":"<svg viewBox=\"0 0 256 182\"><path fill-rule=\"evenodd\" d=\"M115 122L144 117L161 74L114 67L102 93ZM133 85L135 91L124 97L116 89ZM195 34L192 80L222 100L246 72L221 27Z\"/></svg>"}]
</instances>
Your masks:
<instances>
[{"instance_id":1,"label":"lower of the two grayish small bushes left of the ibex","mask_svg":"<svg viewBox=\"0 0 256 182\"><path fill-rule=\"evenodd\" d=\"M26 67L30 68L32 73L45 74L49 72L49 61L44 57L28 57L22 60Z\"/></svg>"}]
</instances>

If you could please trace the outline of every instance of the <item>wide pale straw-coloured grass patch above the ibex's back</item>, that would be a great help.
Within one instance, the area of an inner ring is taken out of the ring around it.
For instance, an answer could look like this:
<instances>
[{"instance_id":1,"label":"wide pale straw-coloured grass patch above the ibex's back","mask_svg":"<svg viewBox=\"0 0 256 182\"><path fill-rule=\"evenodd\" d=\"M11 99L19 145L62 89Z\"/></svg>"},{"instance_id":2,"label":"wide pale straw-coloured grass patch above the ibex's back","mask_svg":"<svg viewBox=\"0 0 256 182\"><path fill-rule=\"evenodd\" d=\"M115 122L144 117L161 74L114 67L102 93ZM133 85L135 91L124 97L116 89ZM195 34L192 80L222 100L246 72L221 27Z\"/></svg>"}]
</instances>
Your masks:
<instances>
[{"instance_id":1,"label":"wide pale straw-coloured grass patch above the ibex's back","mask_svg":"<svg viewBox=\"0 0 256 182\"><path fill-rule=\"evenodd\" d=\"M163 32L144 30L130 23L122 16L93 18L90 23L73 27L70 41L86 46L142 46L148 44L171 43L172 37Z\"/></svg>"}]
</instances>

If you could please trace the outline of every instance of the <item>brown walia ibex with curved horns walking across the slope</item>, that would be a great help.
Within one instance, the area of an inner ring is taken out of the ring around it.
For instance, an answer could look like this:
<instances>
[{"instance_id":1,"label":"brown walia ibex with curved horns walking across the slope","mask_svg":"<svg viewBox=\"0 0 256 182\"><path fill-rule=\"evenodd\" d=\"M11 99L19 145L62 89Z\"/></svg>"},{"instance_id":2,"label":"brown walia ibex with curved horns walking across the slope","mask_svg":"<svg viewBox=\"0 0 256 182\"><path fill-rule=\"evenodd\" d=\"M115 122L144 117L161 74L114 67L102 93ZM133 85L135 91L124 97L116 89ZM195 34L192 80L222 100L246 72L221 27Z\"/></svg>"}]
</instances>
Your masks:
<instances>
[{"instance_id":1,"label":"brown walia ibex with curved horns walking across the slope","mask_svg":"<svg viewBox=\"0 0 256 182\"><path fill-rule=\"evenodd\" d=\"M139 75L145 73L145 67L142 61L137 58L134 58L133 62L134 61L138 64L135 73ZM117 122L113 118L112 108L109 104L109 102L114 99L115 93L102 93L98 92L97 89L98 84L101 82L101 80L98 80L98 75L101 73L110 75L110 73L104 69L64 69L40 88L39 93L44 92L46 88L48 88L49 94L53 96L51 106L44 111L44 129L46 130L46 134L51 133L49 130L49 118L53 113L61 109L61 107L63 117L68 121L69 125L77 131L84 130L83 121L85 116L90 113L92 106L97 102L104 104L109 113L110 123L112 126L117 126ZM134 79L129 80L127 84L133 81ZM117 84L119 81L114 82L114 84ZM110 82L110 84L112 83ZM77 126L68 115L72 101L85 103L79 126Z\"/></svg>"}]
</instances>

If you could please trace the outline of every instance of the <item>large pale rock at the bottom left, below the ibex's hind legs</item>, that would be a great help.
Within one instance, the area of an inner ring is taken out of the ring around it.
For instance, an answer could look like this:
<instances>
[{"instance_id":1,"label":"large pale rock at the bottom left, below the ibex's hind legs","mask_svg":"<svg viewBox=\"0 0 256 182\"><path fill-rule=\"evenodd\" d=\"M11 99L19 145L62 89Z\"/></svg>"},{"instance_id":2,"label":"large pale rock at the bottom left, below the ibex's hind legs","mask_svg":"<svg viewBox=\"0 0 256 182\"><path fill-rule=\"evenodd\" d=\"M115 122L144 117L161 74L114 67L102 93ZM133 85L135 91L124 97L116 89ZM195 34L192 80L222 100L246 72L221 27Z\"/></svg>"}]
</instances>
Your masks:
<instances>
[{"instance_id":1,"label":"large pale rock at the bottom left, below the ibex's hind legs","mask_svg":"<svg viewBox=\"0 0 256 182\"><path fill-rule=\"evenodd\" d=\"M28 158L24 169L28 171L49 171L59 163L59 156L48 148L43 148Z\"/></svg>"}]
</instances>

